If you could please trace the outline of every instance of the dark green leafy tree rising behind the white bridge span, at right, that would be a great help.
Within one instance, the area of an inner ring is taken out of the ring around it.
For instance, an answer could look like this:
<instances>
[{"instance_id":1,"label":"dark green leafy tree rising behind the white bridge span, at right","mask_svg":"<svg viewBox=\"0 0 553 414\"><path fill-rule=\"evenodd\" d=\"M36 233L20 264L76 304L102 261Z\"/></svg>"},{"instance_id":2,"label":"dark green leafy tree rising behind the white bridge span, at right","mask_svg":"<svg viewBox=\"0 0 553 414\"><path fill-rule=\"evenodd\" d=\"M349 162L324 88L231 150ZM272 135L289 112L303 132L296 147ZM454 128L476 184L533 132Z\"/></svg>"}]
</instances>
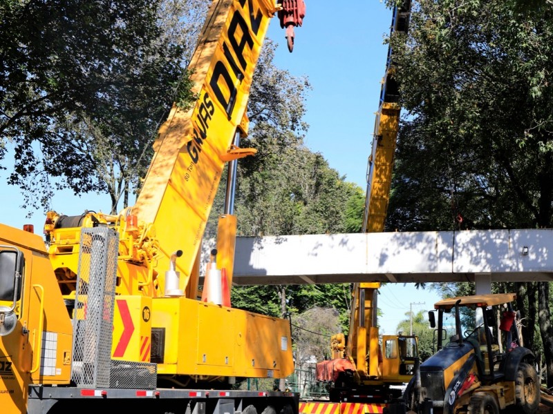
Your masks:
<instances>
[{"instance_id":1,"label":"dark green leafy tree rising behind the white bridge span, at right","mask_svg":"<svg viewBox=\"0 0 553 414\"><path fill-rule=\"evenodd\" d=\"M388 228L552 226L553 18L543 2L519 6L421 0L408 39L391 39L406 116ZM551 385L549 290L536 285Z\"/></svg>"}]
</instances>

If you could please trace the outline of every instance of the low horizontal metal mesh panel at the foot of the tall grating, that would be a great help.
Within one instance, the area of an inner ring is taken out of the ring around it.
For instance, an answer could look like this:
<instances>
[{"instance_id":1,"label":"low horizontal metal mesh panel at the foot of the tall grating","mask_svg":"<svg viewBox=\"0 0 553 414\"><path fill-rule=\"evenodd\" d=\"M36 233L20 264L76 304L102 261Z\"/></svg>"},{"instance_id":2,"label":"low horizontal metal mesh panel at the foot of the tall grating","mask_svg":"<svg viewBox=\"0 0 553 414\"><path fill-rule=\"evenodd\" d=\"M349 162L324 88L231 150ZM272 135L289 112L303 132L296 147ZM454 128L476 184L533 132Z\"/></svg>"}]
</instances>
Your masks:
<instances>
[{"instance_id":1,"label":"low horizontal metal mesh panel at the foot of the tall grating","mask_svg":"<svg viewBox=\"0 0 553 414\"><path fill-rule=\"evenodd\" d=\"M113 359L109 388L140 388L153 390L157 386L156 364L126 362Z\"/></svg>"}]
</instances>

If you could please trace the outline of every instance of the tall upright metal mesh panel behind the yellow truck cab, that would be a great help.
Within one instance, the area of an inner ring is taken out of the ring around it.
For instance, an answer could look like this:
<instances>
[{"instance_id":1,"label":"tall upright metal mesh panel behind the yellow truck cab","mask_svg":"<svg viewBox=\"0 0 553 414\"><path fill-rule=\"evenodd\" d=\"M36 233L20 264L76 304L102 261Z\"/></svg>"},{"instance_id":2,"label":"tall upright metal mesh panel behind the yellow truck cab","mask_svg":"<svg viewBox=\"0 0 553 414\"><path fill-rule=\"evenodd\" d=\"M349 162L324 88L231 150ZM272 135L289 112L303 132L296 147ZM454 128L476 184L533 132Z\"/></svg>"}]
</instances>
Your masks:
<instances>
[{"instance_id":1,"label":"tall upright metal mesh panel behind the yellow truck cab","mask_svg":"<svg viewBox=\"0 0 553 414\"><path fill-rule=\"evenodd\" d=\"M117 279L118 234L82 228L73 317L71 379L77 386L108 388Z\"/></svg>"}]
</instances>

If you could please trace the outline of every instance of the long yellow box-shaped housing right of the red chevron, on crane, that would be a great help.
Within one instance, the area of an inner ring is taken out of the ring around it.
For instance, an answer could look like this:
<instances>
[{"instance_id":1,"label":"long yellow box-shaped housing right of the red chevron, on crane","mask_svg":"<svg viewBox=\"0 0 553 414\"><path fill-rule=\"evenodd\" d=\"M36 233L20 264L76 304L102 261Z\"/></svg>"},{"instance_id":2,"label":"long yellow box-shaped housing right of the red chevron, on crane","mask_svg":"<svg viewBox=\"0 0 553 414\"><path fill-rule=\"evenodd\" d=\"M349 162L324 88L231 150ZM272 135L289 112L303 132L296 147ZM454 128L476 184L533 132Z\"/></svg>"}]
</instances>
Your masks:
<instances>
[{"instance_id":1,"label":"long yellow box-shaped housing right of the red chevron, on crane","mask_svg":"<svg viewBox=\"0 0 553 414\"><path fill-rule=\"evenodd\" d=\"M185 297L154 298L152 306L152 328L165 328L158 373L286 377L294 372L288 321Z\"/></svg>"}]
</instances>

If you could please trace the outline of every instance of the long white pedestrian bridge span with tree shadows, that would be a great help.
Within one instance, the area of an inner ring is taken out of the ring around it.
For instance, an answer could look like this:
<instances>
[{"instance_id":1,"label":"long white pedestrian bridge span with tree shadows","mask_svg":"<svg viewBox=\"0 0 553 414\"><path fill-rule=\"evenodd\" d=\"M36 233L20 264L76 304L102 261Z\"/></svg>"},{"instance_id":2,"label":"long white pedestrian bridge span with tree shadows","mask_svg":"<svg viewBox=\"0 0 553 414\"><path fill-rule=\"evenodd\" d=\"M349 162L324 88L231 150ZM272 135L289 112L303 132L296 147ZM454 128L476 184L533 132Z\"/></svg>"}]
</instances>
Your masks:
<instances>
[{"instance_id":1,"label":"long white pedestrian bridge span with tree shadows","mask_svg":"<svg viewBox=\"0 0 553 414\"><path fill-rule=\"evenodd\" d=\"M553 229L236 239L237 285L479 280L552 282Z\"/></svg>"}]
</instances>

